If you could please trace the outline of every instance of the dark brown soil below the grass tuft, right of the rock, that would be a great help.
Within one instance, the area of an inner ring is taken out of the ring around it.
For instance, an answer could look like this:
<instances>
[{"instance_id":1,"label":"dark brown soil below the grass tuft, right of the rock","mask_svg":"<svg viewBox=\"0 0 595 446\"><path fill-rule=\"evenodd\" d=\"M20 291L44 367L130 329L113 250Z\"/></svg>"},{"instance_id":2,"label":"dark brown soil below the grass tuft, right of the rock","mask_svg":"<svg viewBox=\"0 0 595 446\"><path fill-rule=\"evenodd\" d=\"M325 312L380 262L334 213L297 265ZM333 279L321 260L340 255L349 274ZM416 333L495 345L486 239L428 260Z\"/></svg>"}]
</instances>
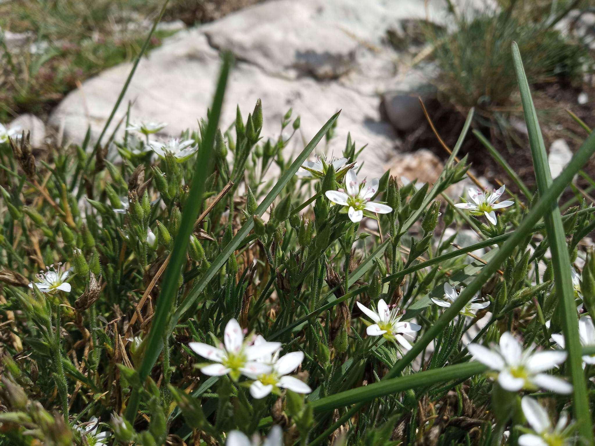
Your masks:
<instances>
[{"instance_id":1,"label":"dark brown soil below the grass tuft, right of the rock","mask_svg":"<svg viewBox=\"0 0 595 446\"><path fill-rule=\"evenodd\" d=\"M571 86L564 85L561 82L534 86L534 103L540 120L543 139L548 150L553 141L563 138L571 150L575 152L587 137L585 130L566 113L566 110L572 111L588 127L595 129L595 88L584 87L583 91L587 92L590 100L587 104L578 105L577 96L580 90L574 89ZM512 120L524 123L520 98L512 98L512 101L519 105L502 107L499 110L490 111L476 109L472 129L477 129L483 133L488 141L491 141L491 144L503 155L512 169L521 177L525 185L529 189L534 190L536 188L536 182L527 135L510 126ZM430 101L426 104L426 107L441 138L452 148L456 144L459 133L462 130L468 110L456 110L452 107L444 107L438 101ZM503 121L504 125L508 127L507 132L502 132L500 130L501 127L497 126L496 115L502 117L500 122ZM405 141L403 151L415 151L417 149L427 148L443 160L446 160L448 157L447 152L437 142L436 136L434 136L428 124L424 124L421 129L408 135L403 135L403 137ZM491 158L489 152L475 138L471 131L469 131L459 154L460 157L463 157L465 154L468 155L468 159L472 164L471 168L476 176L486 177L493 185L496 185L499 180L505 183L506 187L510 188L515 194L518 194L518 188L509 179L505 170ZM584 171L591 178L595 179L595 157L591 158L587 163ZM577 177L575 184L582 189L586 189L589 186L587 180L582 177ZM568 199L570 197L572 197L572 192L567 192L562 198Z\"/></svg>"}]
</instances>

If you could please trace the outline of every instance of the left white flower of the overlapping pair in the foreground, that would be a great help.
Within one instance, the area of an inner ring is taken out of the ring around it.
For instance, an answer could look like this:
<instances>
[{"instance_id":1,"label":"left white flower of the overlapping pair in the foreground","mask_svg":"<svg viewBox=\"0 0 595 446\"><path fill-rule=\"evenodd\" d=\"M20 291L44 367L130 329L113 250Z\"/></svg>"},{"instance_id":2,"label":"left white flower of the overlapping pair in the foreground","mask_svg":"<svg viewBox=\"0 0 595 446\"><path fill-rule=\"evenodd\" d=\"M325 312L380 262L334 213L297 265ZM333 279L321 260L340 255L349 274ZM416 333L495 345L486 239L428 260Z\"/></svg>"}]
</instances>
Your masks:
<instances>
[{"instance_id":1,"label":"left white flower of the overlapping pair in the foreground","mask_svg":"<svg viewBox=\"0 0 595 446\"><path fill-rule=\"evenodd\" d=\"M273 367L258 360L281 347L281 342L247 345L244 342L242 328L235 319L230 319L227 323L223 333L223 343L220 348L202 342L190 342L188 344L192 350L203 358L215 361L216 364L201 367L201 372L205 375L221 376L229 373L233 380L237 380L240 378L240 374L258 376L270 373Z\"/></svg>"}]
</instances>

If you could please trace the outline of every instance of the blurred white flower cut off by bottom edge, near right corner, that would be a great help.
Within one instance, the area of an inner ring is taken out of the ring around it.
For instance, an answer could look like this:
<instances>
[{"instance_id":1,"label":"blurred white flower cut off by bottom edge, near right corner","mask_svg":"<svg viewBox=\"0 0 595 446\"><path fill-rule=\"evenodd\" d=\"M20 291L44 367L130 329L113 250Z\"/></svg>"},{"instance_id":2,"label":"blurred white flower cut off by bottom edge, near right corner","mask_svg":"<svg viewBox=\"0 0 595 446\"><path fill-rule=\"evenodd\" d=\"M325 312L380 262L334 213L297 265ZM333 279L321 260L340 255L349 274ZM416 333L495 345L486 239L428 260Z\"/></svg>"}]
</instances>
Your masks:
<instances>
[{"instance_id":1,"label":"blurred white flower cut off by bottom edge, near right corner","mask_svg":"<svg viewBox=\"0 0 595 446\"><path fill-rule=\"evenodd\" d=\"M521 407L527 422L534 433L519 436L520 446L564 446L571 444L572 425L568 423L568 413L562 411L556 426L552 426L547 411L531 397L522 397Z\"/></svg>"}]
</instances>

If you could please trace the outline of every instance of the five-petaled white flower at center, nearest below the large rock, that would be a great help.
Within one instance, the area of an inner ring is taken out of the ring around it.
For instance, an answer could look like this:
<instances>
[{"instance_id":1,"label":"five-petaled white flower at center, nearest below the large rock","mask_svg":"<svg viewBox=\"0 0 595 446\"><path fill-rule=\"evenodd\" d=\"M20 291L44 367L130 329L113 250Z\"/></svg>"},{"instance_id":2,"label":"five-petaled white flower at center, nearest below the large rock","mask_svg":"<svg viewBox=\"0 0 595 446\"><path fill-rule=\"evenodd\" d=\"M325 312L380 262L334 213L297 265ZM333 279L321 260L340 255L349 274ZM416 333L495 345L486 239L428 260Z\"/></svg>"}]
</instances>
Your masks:
<instances>
[{"instance_id":1,"label":"five-petaled white flower at center, nearest below the large rock","mask_svg":"<svg viewBox=\"0 0 595 446\"><path fill-rule=\"evenodd\" d=\"M366 180L360 184L355 170L350 169L345 176L345 186L347 194L340 191L327 191L325 195L333 203L349 207L347 214L353 223L361 222L364 218L364 210L378 214L388 214L393 210L386 204L369 201L378 191L378 178L374 178L369 185Z\"/></svg>"}]
</instances>

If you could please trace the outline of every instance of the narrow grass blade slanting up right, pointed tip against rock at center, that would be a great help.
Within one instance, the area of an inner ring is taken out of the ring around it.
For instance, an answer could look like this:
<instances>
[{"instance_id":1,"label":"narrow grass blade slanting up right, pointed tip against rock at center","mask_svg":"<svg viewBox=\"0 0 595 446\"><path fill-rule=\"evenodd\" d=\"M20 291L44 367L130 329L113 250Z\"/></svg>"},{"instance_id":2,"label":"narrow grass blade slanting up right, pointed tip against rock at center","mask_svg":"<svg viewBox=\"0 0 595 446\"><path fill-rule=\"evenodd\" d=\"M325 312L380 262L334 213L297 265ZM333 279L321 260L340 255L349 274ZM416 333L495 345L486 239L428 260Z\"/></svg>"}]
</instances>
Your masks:
<instances>
[{"instance_id":1,"label":"narrow grass blade slanting up right, pointed tip against rock at center","mask_svg":"<svg viewBox=\"0 0 595 446\"><path fill-rule=\"evenodd\" d=\"M273 186L273 189L271 189L271 191L267 194L264 200L262 200L258 208L256 208L256 215L262 216L262 214L265 213L268 207L270 207L270 205L273 204L274 199L277 198L277 195L280 194L280 192L287 185L291 177L295 175L297 169L299 169L300 166L302 166L303 162L306 160L306 158L308 158L312 150L314 150L314 148L317 146L318 142L320 142L322 136L324 136L328 132L328 129L330 129L334 121L337 120L340 113L341 112L339 111L336 114L334 114L333 117L331 117L327 121L327 123L324 124L324 126L322 126L322 128L318 131L314 138L312 138L312 141L310 141L308 145L306 145L305 148L302 150L302 152L299 155L297 155L297 158L295 159L295 161L293 161L292 165L289 166L289 169L287 169L283 173L278 182ZM215 259L211 263L211 267L206 271L205 275L201 277L198 283L196 283L196 285L193 286L186 299L184 299L184 301L181 302L180 306L177 308L171 326L175 325L177 320L180 319L181 315L184 314L188 310L188 308L190 308L190 306L196 301L196 299L198 299L199 295L201 295L206 285L226 263L231 253L234 252L240 244L242 244L243 239L246 238L250 230L252 230L253 226L254 220L249 219L248 221L246 221L246 223L244 223L240 230L236 233L234 238L231 239L231 241L227 244L225 249L223 249L223 251L221 251L221 253L217 255L217 257L215 257Z\"/></svg>"}]
</instances>

